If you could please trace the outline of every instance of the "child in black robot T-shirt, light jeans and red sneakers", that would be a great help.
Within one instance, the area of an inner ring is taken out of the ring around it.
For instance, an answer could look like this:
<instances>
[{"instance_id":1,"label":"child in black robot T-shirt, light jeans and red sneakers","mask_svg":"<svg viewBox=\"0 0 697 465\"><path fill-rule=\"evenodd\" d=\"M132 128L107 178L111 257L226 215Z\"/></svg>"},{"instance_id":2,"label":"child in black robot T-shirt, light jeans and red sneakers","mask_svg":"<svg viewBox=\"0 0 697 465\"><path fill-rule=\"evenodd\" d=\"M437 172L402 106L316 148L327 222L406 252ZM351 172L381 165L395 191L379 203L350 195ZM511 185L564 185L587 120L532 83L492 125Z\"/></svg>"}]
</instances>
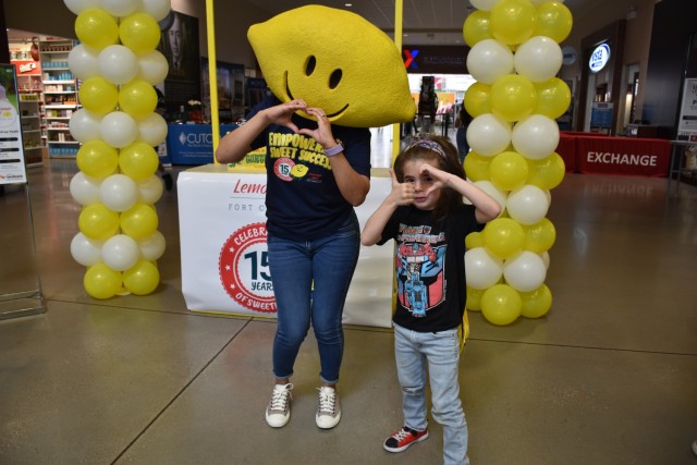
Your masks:
<instances>
[{"instance_id":1,"label":"child in black robot T-shirt, light jeans and red sneakers","mask_svg":"<svg viewBox=\"0 0 697 465\"><path fill-rule=\"evenodd\" d=\"M394 352L404 426L384 441L384 449L402 452L428 438L428 372L432 416L443 427L443 462L468 464L467 423L457 382L458 327L466 299L465 236L497 218L501 206L465 180L457 149L442 137L406 147L390 174L392 192L360 235L363 245L396 241Z\"/></svg>"}]
</instances>

